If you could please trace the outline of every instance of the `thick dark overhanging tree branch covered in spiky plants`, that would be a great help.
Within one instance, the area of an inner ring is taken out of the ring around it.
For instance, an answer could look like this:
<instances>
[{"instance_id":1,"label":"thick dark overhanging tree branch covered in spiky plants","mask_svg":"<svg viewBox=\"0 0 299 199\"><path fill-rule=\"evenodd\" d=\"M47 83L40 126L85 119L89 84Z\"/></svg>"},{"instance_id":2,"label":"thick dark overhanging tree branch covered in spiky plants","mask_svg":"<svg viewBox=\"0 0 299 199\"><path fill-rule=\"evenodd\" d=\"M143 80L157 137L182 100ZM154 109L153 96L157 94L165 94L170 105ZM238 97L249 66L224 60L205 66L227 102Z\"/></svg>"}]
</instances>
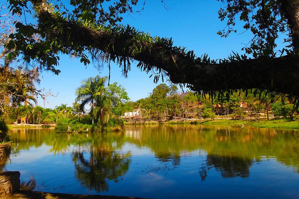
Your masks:
<instances>
[{"instance_id":1,"label":"thick dark overhanging tree branch covered in spiky plants","mask_svg":"<svg viewBox=\"0 0 299 199\"><path fill-rule=\"evenodd\" d=\"M130 27L118 31L93 28L53 14L45 3L32 2L37 7L39 27L45 31L46 38L57 41L63 48L98 49L109 54L111 60L117 58L124 62L125 66L134 59L146 72L161 69L173 83L189 84L196 91L258 88L299 96L299 60L292 55L254 59L236 55L216 63L194 58L192 52L185 53L167 39L143 39L145 34L130 32ZM53 28L58 26L59 29ZM141 49L136 50L137 47Z\"/></svg>"}]
</instances>

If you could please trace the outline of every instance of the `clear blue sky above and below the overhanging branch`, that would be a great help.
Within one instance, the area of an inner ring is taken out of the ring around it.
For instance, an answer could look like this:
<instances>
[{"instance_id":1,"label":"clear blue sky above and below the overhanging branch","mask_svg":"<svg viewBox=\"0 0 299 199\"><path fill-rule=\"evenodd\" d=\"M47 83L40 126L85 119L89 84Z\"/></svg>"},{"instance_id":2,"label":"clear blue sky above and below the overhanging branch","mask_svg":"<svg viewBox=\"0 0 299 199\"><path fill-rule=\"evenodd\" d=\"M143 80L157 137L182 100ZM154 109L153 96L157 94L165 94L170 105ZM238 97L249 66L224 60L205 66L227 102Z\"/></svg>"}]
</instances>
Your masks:
<instances>
[{"instance_id":1,"label":"clear blue sky above and below the overhanging branch","mask_svg":"<svg viewBox=\"0 0 299 199\"><path fill-rule=\"evenodd\" d=\"M211 58L226 58L234 52L241 52L244 43L248 43L252 35L231 34L228 38L221 38L216 34L225 27L225 22L218 19L217 11L221 2L216 0L166 0L166 10L160 0L147 0L144 11L140 14L131 14L124 17L123 24L129 24L139 30L150 32L152 36L172 37L174 44L185 46L194 50L197 55L208 53ZM241 30L242 23L238 23ZM242 32L242 31L240 31ZM278 42L281 44L281 42ZM71 105L75 99L75 90L80 82L89 76L97 74L108 75L107 64L99 72L93 64L85 66L78 59L60 56L58 69L61 73L57 76L51 72L41 74L41 83L37 88L51 89L53 94L59 92L57 97L50 97L45 107L54 108L61 103ZM153 83L150 74L140 72L136 64L132 64L128 78L121 74L121 69L112 63L111 82L118 82L124 86L131 100L135 101L147 97L157 84ZM162 83L161 81L159 83ZM43 106L43 100L39 99Z\"/></svg>"}]
</instances>

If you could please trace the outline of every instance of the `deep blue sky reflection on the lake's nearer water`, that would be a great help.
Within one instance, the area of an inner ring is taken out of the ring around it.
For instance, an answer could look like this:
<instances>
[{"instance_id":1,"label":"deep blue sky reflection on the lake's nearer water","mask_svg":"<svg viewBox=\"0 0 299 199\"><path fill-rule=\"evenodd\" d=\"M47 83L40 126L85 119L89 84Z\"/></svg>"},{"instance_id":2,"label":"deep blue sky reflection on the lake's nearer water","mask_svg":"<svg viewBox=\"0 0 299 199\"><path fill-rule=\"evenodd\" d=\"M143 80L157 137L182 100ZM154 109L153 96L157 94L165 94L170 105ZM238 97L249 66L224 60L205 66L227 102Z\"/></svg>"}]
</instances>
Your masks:
<instances>
[{"instance_id":1,"label":"deep blue sky reflection on the lake's nearer water","mask_svg":"<svg viewBox=\"0 0 299 199\"><path fill-rule=\"evenodd\" d=\"M27 132L30 133L30 132ZM128 134L126 134L128 135ZM139 140L136 133L130 134ZM99 138L97 138L99 139ZM116 141L115 141L116 142ZM116 146L116 143L113 146ZM89 160L89 144L70 145L64 153L54 155L53 146L42 144L39 147L12 150L7 170L21 172L21 181L28 182L30 175L36 179L38 191L64 192L74 194L98 194L89 190L75 176L76 169L71 153L84 152ZM262 156L261 161L253 160L249 165L246 178L223 178L215 165L206 165L207 153L197 150L180 151L179 164L174 165L172 158L168 162L159 159L153 149L125 142L115 153L131 154L128 171L118 177L118 182L106 179L108 191L104 195L135 196L149 198L298 198L299 174L291 166L279 163L273 155ZM17 156L15 156L17 155ZM211 154L210 154L211 155ZM214 154L213 154L214 155ZM224 162L230 166L229 162ZM242 166L242 164L240 164ZM235 170L238 166L235 165ZM148 167L168 166L167 171L148 171ZM206 178L202 180L199 171L206 169ZM100 172L100 171L99 171ZM43 186L41 186L43 184Z\"/></svg>"}]
</instances>

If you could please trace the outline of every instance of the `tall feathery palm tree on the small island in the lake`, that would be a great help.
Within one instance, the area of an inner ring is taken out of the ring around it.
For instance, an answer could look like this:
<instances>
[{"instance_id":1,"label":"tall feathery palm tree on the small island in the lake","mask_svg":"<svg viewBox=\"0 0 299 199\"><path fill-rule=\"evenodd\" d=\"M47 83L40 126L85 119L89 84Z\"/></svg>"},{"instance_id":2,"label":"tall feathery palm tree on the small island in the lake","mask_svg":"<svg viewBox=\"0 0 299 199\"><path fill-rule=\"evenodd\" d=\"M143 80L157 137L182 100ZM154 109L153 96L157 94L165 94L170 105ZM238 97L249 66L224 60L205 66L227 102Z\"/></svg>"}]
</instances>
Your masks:
<instances>
[{"instance_id":1,"label":"tall feathery palm tree on the small island in the lake","mask_svg":"<svg viewBox=\"0 0 299 199\"><path fill-rule=\"evenodd\" d=\"M86 81L82 81L82 85L76 90L76 101L80 101L80 110L83 111L84 106L89 104L92 123L100 120L102 124L106 124L112 111L113 104L116 104L117 96L105 87L108 78L95 76L89 77Z\"/></svg>"}]
</instances>

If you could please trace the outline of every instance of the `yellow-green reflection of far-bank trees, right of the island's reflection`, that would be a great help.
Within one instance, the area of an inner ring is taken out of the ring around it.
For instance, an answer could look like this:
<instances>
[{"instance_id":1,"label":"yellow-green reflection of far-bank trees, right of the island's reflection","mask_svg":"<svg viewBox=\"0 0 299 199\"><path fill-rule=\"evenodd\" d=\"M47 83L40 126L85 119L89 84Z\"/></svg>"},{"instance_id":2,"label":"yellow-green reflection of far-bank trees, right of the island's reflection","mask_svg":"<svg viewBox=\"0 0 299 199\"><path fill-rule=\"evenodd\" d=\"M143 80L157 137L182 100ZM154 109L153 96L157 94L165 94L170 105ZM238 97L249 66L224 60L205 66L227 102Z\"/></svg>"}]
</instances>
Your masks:
<instances>
[{"instance_id":1,"label":"yellow-green reflection of far-bank trees, right of the island's reflection","mask_svg":"<svg viewBox=\"0 0 299 199\"><path fill-rule=\"evenodd\" d=\"M180 164L181 155L203 150L209 158L207 161L219 167L224 177L245 177L251 162L264 157L276 157L278 162L299 170L299 133L296 130L143 125L128 126L125 135L137 146L149 147L159 161L172 161L173 165ZM200 168L200 171L205 178L206 169Z\"/></svg>"}]
</instances>

